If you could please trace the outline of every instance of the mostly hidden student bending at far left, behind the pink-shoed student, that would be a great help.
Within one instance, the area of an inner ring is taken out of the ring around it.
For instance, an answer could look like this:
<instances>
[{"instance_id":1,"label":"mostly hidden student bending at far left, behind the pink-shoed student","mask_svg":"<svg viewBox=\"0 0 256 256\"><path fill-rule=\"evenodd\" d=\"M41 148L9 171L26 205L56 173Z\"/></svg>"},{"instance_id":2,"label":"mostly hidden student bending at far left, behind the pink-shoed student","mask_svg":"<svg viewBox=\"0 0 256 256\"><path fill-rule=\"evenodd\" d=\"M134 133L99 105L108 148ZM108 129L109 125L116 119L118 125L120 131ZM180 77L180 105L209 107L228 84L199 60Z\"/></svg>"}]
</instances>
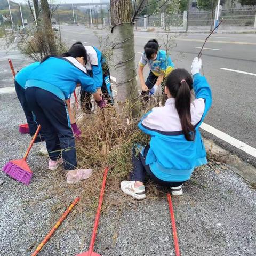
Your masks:
<instances>
[{"instance_id":1,"label":"mostly hidden student bending at far left, behind the pink-shoed student","mask_svg":"<svg viewBox=\"0 0 256 256\"><path fill-rule=\"evenodd\" d=\"M17 97L20 101L20 105L24 111L24 114L27 119L28 127L29 127L29 133L30 136L34 136L36 129L37 129L37 122L35 119L35 115L33 115L32 111L28 107L28 103L25 97L25 84L26 79L30 75L30 73L39 66L40 62L36 61L34 63L31 63L27 65L26 67L22 68L14 78L14 85L15 85L15 91L17 94ZM44 137L42 133L39 133L37 135L37 138L35 140L35 143L37 142L43 142ZM47 154L46 145L45 142L41 144L41 152Z\"/></svg>"}]
</instances>

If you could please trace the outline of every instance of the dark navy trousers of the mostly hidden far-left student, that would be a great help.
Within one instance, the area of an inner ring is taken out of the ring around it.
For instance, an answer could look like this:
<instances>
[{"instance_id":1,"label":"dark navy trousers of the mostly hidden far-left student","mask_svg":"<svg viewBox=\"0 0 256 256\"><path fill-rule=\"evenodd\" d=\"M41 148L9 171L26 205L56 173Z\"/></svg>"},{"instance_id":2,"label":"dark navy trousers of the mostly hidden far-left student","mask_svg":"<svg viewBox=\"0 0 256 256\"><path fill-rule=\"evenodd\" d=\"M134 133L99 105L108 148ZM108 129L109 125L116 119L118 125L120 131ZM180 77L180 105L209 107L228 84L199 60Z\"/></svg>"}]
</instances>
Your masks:
<instances>
[{"instance_id":1,"label":"dark navy trousers of the mostly hidden far-left student","mask_svg":"<svg viewBox=\"0 0 256 256\"><path fill-rule=\"evenodd\" d=\"M14 80L15 85L15 91L17 94L17 97L20 101L20 105L24 111L24 114L27 119L28 127L29 127L29 133L31 136L34 136L36 129L37 129L37 122L35 120L35 117L33 116L32 111L28 107L28 102L25 97L25 89L23 89L17 82ZM35 140L35 143L44 141L44 137L42 135L42 132L37 135L37 138Z\"/></svg>"}]
</instances>

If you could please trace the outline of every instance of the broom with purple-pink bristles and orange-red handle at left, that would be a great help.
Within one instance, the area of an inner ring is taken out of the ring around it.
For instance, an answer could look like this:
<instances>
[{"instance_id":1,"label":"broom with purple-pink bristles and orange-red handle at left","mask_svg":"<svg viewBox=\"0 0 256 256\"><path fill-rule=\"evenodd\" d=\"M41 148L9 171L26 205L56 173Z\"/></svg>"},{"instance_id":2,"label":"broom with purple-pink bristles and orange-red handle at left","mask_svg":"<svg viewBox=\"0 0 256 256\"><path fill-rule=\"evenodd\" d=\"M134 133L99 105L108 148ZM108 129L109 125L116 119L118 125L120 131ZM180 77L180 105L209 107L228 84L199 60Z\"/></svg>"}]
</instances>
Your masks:
<instances>
[{"instance_id":1,"label":"broom with purple-pink bristles and orange-red handle at left","mask_svg":"<svg viewBox=\"0 0 256 256\"><path fill-rule=\"evenodd\" d=\"M29 147L25 156L22 159L15 159L15 160L9 161L8 163L5 164L5 166L2 169L7 175L9 175L15 180L18 180L24 183L25 185L28 185L30 183L30 180L33 175L33 172L30 170L26 162L26 159L28 157L29 151L31 150L36 140L36 137L39 133L40 128L41 128L41 125L38 125L35 135L29 144Z\"/></svg>"}]
</instances>

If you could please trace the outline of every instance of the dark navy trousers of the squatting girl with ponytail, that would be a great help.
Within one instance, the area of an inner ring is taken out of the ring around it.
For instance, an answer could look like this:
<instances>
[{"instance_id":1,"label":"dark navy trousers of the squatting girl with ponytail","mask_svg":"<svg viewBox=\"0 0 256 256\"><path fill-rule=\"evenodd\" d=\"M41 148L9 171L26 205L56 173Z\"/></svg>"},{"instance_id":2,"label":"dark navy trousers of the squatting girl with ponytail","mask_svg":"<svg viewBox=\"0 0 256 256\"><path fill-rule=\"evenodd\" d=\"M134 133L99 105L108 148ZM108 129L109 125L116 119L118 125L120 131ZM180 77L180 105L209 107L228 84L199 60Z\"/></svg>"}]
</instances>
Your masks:
<instances>
[{"instance_id":1,"label":"dark navy trousers of the squatting girl with ponytail","mask_svg":"<svg viewBox=\"0 0 256 256\"><path fill-rule=\"evenodd\" d=\"M132 151L132 163L133 163L133 170L130 173L130 180L131 181L140 181L145 182L146 174L149 175L150 179L153 180L155 183L166 186L166 187L178 187L182 185L186 181L164 181L161 179L158 179L154 173L150 170L149 165L146 164L146 156L148 153L150 146L146 146L144 149L144 156L139 153L138 156L136 156L135 147Z\"/></svg>"}]
</instances>

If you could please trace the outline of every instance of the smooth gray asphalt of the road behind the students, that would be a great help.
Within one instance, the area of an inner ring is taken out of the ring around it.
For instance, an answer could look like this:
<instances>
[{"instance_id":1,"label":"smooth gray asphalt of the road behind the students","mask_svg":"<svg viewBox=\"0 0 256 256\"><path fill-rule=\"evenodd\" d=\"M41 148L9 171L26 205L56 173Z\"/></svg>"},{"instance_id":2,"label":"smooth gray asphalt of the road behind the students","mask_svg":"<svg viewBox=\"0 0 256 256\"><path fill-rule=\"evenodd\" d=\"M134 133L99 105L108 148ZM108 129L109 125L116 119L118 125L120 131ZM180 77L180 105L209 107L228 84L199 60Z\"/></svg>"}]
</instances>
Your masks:
<instances>
[{"instance_id":1,"label":"smooth gray asphalt of the road behind the students","mask_svg":"<svg viewBox=\"0 0 256 256\"><path fill-rule=\"evenodd\" d=\"M63 37L69 45L79 40L85 45L99 47L95 33L106 38L106 31L90 30L84 26L62 26ZM171 51L175 66L190 70L191 61L199 52L199 49L194 47L201 47L207 35L204 33L175 35L178 39ZM143 45L150 38L157 38L163 44L164 37L166 37L165 33L135 32L136 62L139 62ZM229 68L255 74L256 34L213 34L209 40L214 42L207 42L205 47L219 50L204 50L202 56L204 75L213 91L213 107L205 123L256 148L256 76L220 69ZM113 69L111 75L115 76ZM213 139L218 145L256 166L255 157L210 133L205 131L202 133L206 138Z\"/></svg>"}]
</instances>

